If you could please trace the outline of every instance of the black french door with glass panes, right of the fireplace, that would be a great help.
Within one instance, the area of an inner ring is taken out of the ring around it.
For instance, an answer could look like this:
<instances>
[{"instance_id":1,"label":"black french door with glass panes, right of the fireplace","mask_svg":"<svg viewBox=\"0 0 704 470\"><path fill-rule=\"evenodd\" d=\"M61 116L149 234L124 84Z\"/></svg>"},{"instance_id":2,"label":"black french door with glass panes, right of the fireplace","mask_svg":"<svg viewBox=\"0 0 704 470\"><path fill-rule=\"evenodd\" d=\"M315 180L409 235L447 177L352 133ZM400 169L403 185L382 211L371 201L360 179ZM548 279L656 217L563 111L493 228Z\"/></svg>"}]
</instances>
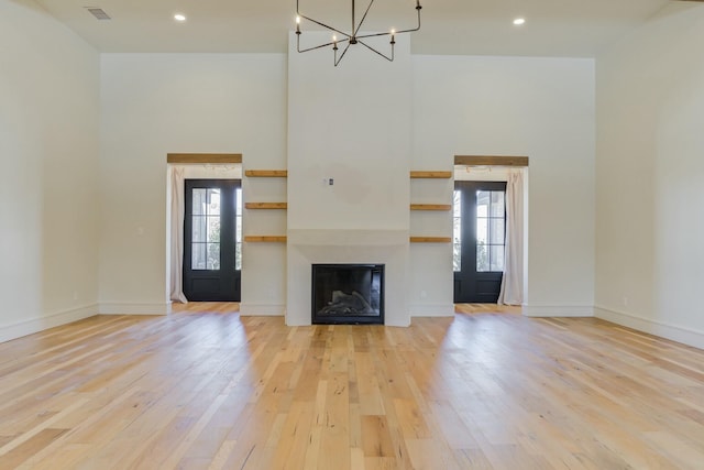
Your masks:
<instances>
[{"instance_id":1,"label":"black french door with glass panes, right of the fireplace","mask_svg":"<svg viewBox=\"0 0 704 470\"><path fill-rule=\"evenodd\" d=\"M454 182L454 303L494 304L504 275L506 183Z\"/></svg>"}]
</instances>

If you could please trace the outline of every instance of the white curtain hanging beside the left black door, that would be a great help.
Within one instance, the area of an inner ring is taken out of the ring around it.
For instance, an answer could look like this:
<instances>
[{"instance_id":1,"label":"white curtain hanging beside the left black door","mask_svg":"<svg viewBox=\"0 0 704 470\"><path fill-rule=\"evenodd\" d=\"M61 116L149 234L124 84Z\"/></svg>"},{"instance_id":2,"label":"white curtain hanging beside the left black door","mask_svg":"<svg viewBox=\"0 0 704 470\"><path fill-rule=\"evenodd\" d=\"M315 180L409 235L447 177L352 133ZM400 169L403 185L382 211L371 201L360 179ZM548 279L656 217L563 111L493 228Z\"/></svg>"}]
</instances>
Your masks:
<instances>
[{"instance_id":1,"label":"white curtain hanging beside the left black door","mask_svg":"<svg viewBox=\"0 0 704 470\"><path fill-rule=\"evenodd\" d=\"M170 167L170 272L168 273L170 280L170 288L168 298L170 300L180 302L186 304L188 300L184 295L183 284L183 270L184 270L184 168L172 166Z\"/></svg>"}]
</instances>

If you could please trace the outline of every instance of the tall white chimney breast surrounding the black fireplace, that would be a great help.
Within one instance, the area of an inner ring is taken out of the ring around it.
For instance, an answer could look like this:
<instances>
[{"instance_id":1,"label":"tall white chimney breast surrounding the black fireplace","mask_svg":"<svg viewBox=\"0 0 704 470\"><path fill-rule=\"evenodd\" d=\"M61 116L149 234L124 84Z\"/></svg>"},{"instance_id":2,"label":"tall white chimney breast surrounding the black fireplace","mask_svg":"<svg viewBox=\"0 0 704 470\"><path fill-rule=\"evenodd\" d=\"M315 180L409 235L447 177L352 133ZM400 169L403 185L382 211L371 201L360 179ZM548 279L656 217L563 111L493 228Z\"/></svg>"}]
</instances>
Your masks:
<instances>
[{"instance_id":1,"label":"tall white chimney breast surrounding the black fireplace","mask_svg":"<svg viewBox=\"0 0 704 470\"><path fill-rule=\"evenodd\" d=\"M337 67L289 35L288 325L310 324L314 263L385 264L385 323L410 324L411 72L408 35L393 63L358 44Z\"/></svg>"}]
</instances>

